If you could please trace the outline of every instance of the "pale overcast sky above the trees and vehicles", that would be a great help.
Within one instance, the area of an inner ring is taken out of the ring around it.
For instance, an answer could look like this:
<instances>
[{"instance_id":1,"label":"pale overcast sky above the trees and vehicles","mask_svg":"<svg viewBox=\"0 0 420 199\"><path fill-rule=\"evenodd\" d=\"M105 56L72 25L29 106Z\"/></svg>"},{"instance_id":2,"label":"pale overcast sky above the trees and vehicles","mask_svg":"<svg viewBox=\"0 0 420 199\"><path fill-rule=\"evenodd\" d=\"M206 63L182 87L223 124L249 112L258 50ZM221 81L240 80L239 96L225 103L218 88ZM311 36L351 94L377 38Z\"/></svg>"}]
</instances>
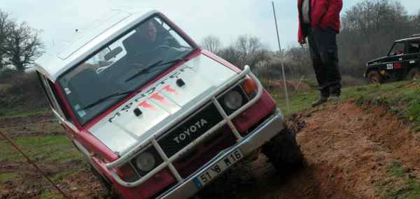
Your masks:
<instances>
[{"instance_id":1,"label":"pale overcast sky above the trees and vehicles","mask_svg":"<svg viewBox=\"0 0 420 199\"><path fill-rule=\"evenodd\" d=\"M344 0L343 10L361 0ZM381 0L378 0L381 1ZM274 0L282 47L297 45L297 1ZM419 0L400 0L409 13L420 10ZM46 50L66 41L75 29L111 9L155 8L187 32L197 43L208 35L229 45L237 36L258 36L272 50L277 49L276 29L269 0L0 0L0 9L19 22L42 29ZM343 12L342 12L343 13Z\"/></svg>"}]
</instances>

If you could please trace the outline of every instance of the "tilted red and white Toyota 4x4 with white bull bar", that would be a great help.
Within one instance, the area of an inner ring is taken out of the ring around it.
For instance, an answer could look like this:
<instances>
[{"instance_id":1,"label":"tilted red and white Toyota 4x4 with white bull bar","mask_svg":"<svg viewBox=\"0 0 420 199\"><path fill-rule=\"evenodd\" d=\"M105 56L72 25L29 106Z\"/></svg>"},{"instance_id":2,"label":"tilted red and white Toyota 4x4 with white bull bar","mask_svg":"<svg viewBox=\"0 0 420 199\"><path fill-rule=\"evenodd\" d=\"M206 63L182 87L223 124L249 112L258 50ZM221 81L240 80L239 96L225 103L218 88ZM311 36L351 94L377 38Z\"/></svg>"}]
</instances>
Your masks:
<instances>
[{"instance_id":1,"label":"tilted red and white Toyota 4x4 with white bull bar","mask_svg":"<svg viewBox=\"0 0 420 199\"><path fill-rule=\"evenodd\" d=\"M104 17L36 62L52 112L120 198L188 198L260 148L279 170L302 164L250 68L158 11Z\"/></svg>"}]
</instances>

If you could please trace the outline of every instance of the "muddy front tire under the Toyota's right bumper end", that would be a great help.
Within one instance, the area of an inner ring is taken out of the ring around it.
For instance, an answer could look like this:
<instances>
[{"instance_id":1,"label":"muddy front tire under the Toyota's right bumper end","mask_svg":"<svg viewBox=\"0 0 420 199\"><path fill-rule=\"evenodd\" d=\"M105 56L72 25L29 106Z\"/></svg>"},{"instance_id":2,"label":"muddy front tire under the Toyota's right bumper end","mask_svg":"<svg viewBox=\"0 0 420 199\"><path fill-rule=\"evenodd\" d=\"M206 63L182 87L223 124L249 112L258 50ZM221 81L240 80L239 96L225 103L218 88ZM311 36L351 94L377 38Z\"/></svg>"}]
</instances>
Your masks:
<instances>
[{"instance_id":1,"label":"muddy front tire under the Toyota's right bumper end","mask_svg":"<svg viewBox=\"0 0 420 199\"><path fill-rule=\"evenodd\" d=\"M262 153L281 174L288 175L303 167L303 155L297 145L296 134L288 128L265 143Z\"/></svg>"}]
</instances>

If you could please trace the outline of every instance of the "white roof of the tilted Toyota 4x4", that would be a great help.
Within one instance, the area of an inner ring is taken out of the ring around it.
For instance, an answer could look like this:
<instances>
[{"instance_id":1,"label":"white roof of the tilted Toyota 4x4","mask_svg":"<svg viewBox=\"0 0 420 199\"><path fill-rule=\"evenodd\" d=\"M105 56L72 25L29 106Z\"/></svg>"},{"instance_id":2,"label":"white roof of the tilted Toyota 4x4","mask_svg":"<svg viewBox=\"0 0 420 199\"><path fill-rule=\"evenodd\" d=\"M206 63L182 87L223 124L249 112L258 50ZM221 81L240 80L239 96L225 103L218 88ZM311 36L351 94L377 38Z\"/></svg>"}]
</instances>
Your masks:
<instances>
[{"instance_id":1,"label":"white roof of the tilted Toyota 4x4","mask_svg":"<svg viewBox=\"0 0 420 199\"><path fill-rule=\"evenodd\" d=\"M76 40L66 45L64 50L50 50L50 52L43 54L35 61L35 70L55 82L58 76L69 68L80 63L113 38L123 34L127 29L155 13L160 12L158 10L135 13L113 11L103 21L96 21L87 30L80 34L76 33Z\"/></svg>"}]
</instances>

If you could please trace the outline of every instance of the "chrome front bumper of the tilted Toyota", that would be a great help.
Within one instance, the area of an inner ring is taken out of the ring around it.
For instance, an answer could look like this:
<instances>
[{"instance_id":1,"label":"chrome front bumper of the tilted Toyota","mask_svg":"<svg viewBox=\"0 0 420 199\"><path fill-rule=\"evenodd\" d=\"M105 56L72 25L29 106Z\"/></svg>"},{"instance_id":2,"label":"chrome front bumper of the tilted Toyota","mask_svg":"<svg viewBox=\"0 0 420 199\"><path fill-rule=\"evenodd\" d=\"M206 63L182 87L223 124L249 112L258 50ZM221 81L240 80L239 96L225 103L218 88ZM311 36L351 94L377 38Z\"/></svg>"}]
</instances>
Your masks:
<instances>
[{"instance_id":1,"label":"chrome front bumper of the tilted Toyota","mask_svg":"<svg viewBox=\"0 0 420 199\"><path fill-rule=\"evenodd\" d=\"M263 124L255 128L255 130L249 133L243 140L221 152L221 154L197 170L195 174L190 176L188 179L185 179L181 184L174 186L174 188L163 193L158 198L179 199L193 196L199 191L198 187L193 182L195 178L199 177L203 172L216 165L218 161L225 159L225 157L234 152L235 149L241 149L244 156L251 154L251 152L255 151L255 149L260 148L265 142L271 140L275 135L280 133L283 128L283 115L281 115L279 110L276 110L272 117L269 117L269 119L267 119Z\"/></svg>"}]
</instances>

